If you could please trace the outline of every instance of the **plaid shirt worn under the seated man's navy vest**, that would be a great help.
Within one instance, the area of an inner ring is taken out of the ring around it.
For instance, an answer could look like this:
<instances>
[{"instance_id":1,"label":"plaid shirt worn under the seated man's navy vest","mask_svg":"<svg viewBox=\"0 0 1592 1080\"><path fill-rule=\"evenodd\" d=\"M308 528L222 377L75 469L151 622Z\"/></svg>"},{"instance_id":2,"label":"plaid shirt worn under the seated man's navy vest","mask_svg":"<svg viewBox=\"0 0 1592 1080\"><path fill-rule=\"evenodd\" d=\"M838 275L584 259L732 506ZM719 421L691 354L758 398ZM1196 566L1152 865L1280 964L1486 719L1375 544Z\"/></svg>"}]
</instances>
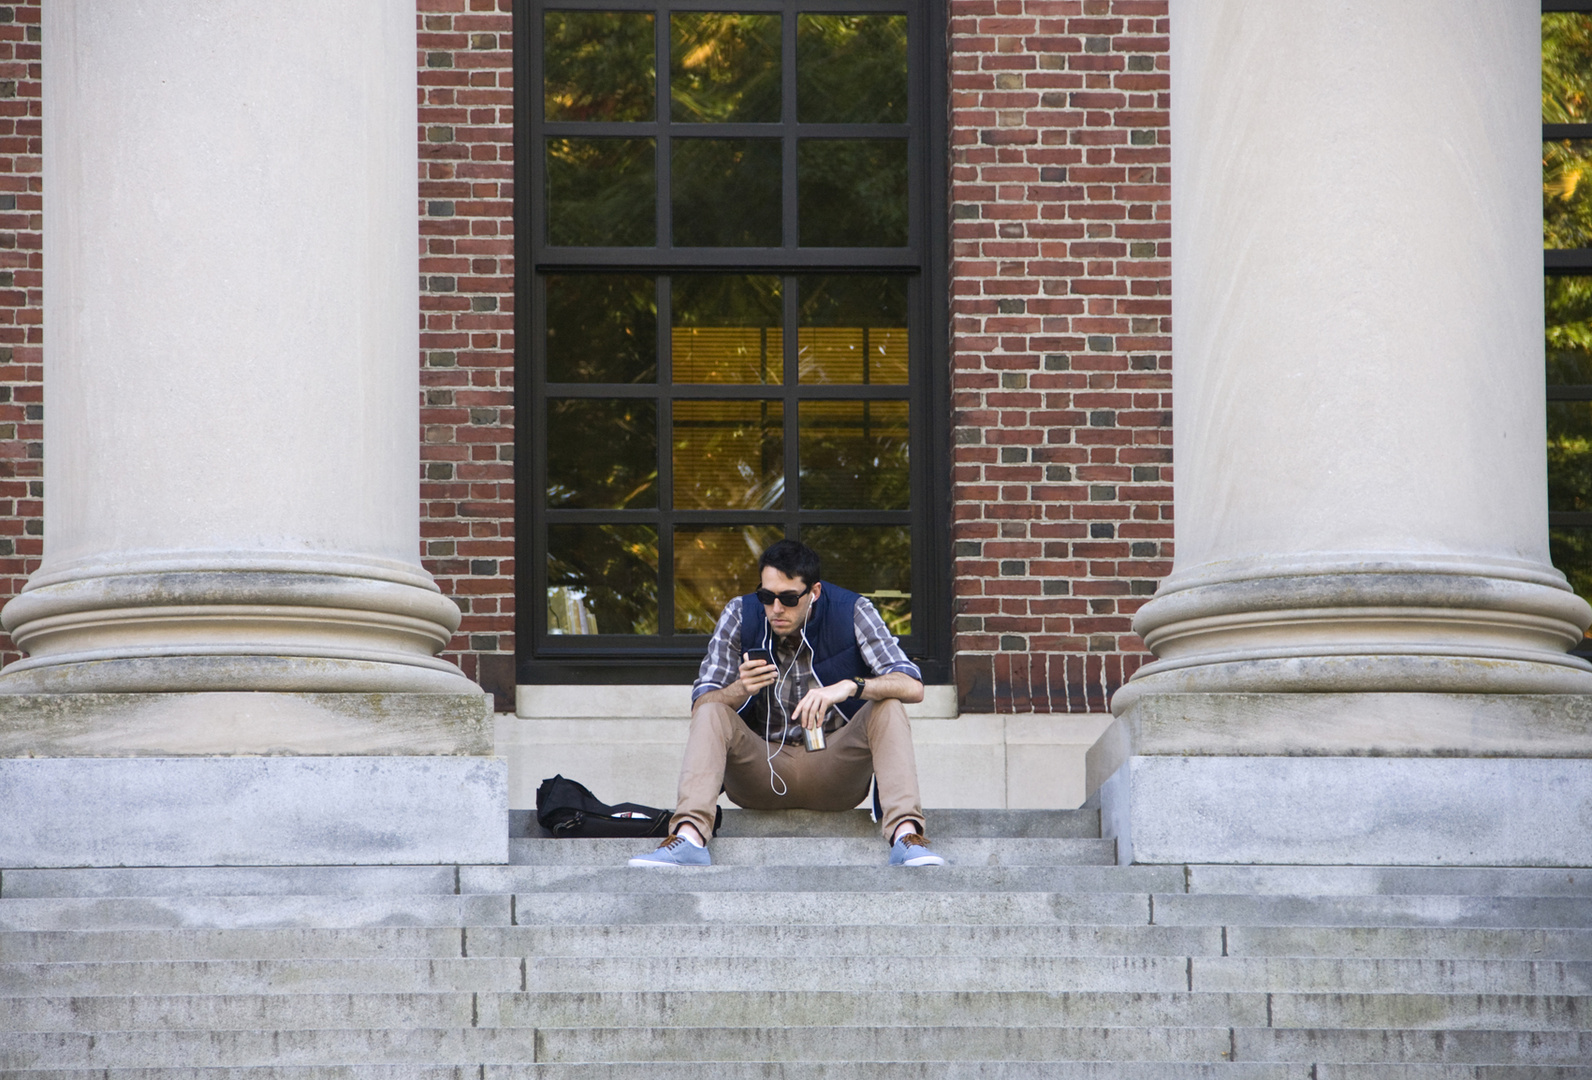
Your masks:
<instances>
[{"instance_id":1,"label":"plaid shirt worn under the seated man's navy vest","mask_svg":"<svg viewBox=\"0 0 1592 1080\"><path fill-rule=\"evenodd\" d=\"M923 672L901 652L901 644L879 618L879 610L866 596L856 597L852 610L852 632L863 652L863 661L876 675L887 675L893 671L911 675L922 682ZM772 723L767 734L772 742L799 742L801 725L790 720L796 712L796 704L809 690L818 685L812 671L812 645L799 634L790 639L774 636L774 663L780 669L780 679L774 683L778 690L778 706L772 709ZM707 656L697 669L697 680L691 687L691 702L710 690L723 690L740 677L740 597L724 605L724 613L718 616L713 637L707 644ZM783 709L780 709L783 706ZM845 714L829 709L823 730L834 731L845 723Z\"/></svg>"}]
</instances>

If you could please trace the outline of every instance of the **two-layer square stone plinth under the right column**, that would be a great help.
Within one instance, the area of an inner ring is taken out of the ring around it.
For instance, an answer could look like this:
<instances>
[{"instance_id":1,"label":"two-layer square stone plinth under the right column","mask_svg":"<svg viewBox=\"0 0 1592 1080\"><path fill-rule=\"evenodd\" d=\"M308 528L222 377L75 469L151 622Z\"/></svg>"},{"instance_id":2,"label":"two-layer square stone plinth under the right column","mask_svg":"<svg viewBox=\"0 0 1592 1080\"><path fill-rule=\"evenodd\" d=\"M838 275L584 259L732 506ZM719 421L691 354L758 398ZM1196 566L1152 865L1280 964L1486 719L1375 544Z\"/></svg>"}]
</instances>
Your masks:
<instances>
[{"instance_id":1,"label":"two-layer square stone plinth under the right column","mask_svg":"<svg viewBox=\"0 0 1592 1080\"><path fill-rule=\"evenodd\" d=\"M1122 863L1592 867L1581 695L1148 695L1110 747Z\"/></svg>"}]
</instances>

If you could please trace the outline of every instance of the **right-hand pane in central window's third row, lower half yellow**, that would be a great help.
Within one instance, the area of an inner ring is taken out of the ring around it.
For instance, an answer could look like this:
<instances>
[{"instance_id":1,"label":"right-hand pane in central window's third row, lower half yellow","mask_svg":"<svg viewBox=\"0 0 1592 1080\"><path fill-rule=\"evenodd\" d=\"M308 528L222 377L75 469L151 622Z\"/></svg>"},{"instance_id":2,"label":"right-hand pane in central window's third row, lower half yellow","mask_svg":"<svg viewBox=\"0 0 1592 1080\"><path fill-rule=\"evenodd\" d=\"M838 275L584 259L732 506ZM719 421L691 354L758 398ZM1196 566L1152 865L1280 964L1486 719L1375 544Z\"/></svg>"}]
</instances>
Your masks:
<instances>
[{"instance_id":1,"label":"right-hand pane in central window's third row, lower half yellow","mask_svg":"<svg viewBox=\"0 0 1592 1080\"><path fill-rule=\"evenodd\" d=\"M896 274L799 277L801 381L904 384L906 287Z\"/></svg>"}]
</instances>

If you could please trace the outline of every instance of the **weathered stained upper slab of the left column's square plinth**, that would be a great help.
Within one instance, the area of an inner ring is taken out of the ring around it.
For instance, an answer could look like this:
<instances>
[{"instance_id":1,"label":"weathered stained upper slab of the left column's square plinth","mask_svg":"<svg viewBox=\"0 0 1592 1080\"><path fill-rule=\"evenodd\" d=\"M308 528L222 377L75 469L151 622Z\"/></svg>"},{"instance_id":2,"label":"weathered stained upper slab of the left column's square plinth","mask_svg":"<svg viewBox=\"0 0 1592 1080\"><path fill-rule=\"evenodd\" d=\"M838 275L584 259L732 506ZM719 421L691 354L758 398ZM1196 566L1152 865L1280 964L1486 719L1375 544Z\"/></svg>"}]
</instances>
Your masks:
<instances>
[{"instance_id":1,"label":"weathered stained upper slab of the left column's square plinth","mask_svg":"<svg viewBox=\"0 0 1592 1080\"><path fill-rule=\"evenodd\" d=\"M0 758L489 753L486 695L0 695Z\"/></svg>"}]
</instances>

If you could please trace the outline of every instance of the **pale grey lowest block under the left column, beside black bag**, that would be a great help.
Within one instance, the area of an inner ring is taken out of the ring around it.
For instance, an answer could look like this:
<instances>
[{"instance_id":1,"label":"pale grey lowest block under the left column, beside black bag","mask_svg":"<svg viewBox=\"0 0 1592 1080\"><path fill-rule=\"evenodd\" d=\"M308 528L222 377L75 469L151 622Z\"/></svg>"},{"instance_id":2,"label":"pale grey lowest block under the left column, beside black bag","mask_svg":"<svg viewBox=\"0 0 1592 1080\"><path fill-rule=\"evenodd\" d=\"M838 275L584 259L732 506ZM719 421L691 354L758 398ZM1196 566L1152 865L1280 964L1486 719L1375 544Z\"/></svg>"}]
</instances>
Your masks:
<instances>
[{"instance_id":1,"label":"pale grey lowest block under the left column, beside black bag","mask_svg":"<svg viewBox=\"0 0 1592 1080\"><path fill-rule=\"evenodd\" d=\"M0 867L503 862L501 758L0 760Z\"/></svg>"}]
</instances>

